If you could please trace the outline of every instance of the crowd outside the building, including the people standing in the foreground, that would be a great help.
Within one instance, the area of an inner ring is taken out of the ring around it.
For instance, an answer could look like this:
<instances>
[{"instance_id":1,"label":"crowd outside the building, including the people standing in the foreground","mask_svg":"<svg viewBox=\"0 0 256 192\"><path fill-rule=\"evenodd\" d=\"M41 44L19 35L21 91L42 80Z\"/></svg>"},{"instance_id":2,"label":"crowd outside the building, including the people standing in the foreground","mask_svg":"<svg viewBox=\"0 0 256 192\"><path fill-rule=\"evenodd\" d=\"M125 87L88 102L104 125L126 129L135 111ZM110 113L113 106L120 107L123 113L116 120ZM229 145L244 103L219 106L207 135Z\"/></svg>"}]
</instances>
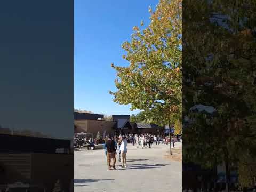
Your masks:
<instances>
[{"instance_id":1,"label":"crowd outside the building, including the people standing in the foreground","mask_svg":"<svg viewBox=\"0 0 256 192\"><path fill-rule=\"evenodd\" d=\"M174 143L176 141L181 141L181 138L172 137L172 145L175 147ZM153 135L153 134L124 134L116 135L111 137L107 135L105 138L105 155L107 159L108 169L111 170L111 161L113 160L113 169L116 170L116 155L117 151L119 154L119 162L121 162L121 167L124 168L127 166L126 153L127 153L127 144L131 143L134 147L142 149L152 148L152 145L166 144L170 142L170 138L165 135Z\"/></svg>"}]
</instances>

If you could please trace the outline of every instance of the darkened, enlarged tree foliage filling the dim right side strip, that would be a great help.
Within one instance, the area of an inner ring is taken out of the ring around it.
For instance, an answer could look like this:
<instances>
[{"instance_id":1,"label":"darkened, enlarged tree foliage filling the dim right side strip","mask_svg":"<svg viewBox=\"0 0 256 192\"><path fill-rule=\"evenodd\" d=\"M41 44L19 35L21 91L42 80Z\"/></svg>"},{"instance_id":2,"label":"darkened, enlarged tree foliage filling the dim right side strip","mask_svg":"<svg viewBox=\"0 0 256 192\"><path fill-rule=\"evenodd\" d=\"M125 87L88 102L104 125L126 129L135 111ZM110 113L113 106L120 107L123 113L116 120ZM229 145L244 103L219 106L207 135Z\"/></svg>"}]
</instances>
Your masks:
<instances>
[{"instance_id":1,"label":"darkened, enlarged tree foliage filling the dim right side strip","mask_svg":"<svg viewBox=\"0 0 256 192\"><path fill-rule=\"evenodd\" d=\"M182 3L182 113L193 122L183 129L182 160L203 167L225 162L227 190L236 165L248 187L255 177L248 177L255 159L255 2ZM190 111L199 103L216 113Z\"/></svg>"}]
</instances>

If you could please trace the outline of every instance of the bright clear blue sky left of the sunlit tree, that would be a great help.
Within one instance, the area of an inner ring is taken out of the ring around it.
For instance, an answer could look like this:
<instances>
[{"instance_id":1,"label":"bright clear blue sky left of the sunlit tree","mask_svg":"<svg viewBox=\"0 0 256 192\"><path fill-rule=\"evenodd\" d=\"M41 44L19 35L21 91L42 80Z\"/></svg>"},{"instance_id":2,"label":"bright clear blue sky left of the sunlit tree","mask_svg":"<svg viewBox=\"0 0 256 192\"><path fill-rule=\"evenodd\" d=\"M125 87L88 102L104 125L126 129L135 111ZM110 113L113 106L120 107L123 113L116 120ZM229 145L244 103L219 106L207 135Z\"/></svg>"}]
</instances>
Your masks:
<instances>
[{"instance_id":1,"label":"bright clear blue sky left of the sunlit tree","mask_svg":"<svg viewBox=\"0 0 256 192\"><path fill-rule=\"evenodd\" d=\"M132 27L149 24L148 7L158 0L75 0L74 106L107 115L131 115L130 106L118 105L108 90L115 91L116 73L110 64L127 65L121 44L130 41Z\"/></svg>"}]
</instances>

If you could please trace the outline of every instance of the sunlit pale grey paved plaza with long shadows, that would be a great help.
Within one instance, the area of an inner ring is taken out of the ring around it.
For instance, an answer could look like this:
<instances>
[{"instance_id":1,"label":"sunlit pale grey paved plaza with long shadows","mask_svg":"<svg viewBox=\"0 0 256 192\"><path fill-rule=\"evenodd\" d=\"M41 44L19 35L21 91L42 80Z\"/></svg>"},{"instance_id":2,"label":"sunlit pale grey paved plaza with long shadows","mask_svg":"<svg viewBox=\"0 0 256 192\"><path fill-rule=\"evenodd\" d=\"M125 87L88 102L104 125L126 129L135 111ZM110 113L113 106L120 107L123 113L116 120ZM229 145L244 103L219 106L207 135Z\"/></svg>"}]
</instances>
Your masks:
<instances>
[{"instance_id":1,"label":"sunlit pale grey paved plaza with long shadows","mask_svg":"<svg viewBox=\"0 0 256 192\"><path fill-rule=\"evenodd\" d=\"M181 147L181 143L175 143ZM127 168L108 170L103 149L75 151L75 192L119 192L119 191L181 191L181 162L163 158L168 145L136 149L127 148ZM120 190L125 189L125 190Z\"/></svg>"}]
</instances>

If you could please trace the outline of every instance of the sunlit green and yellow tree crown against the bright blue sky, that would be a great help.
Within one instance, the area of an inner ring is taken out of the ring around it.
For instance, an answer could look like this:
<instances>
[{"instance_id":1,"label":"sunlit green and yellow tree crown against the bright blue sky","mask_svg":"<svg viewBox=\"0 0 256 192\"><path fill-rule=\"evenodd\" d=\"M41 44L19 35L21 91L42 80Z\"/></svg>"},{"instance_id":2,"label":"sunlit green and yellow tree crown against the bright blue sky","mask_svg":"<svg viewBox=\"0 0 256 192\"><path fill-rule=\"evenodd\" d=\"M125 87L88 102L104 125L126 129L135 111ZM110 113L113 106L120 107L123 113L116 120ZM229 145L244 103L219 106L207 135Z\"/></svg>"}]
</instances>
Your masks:
<instances>
[{"instance_id":1,"label":"sunlit green and yellow tree crown against the bright blue sky","mask_svg":"<svg viewBox=\"0 0 256 192\"><path fill-rule=\"evenodd\" d=\"M134 26L131 41L122 45L129 66L111 64L117 91L110 94L115 102L167 124L172 114L181 116L181 0L160 0L149 12L149 26Z\"/></svg>"}]
</instances>

